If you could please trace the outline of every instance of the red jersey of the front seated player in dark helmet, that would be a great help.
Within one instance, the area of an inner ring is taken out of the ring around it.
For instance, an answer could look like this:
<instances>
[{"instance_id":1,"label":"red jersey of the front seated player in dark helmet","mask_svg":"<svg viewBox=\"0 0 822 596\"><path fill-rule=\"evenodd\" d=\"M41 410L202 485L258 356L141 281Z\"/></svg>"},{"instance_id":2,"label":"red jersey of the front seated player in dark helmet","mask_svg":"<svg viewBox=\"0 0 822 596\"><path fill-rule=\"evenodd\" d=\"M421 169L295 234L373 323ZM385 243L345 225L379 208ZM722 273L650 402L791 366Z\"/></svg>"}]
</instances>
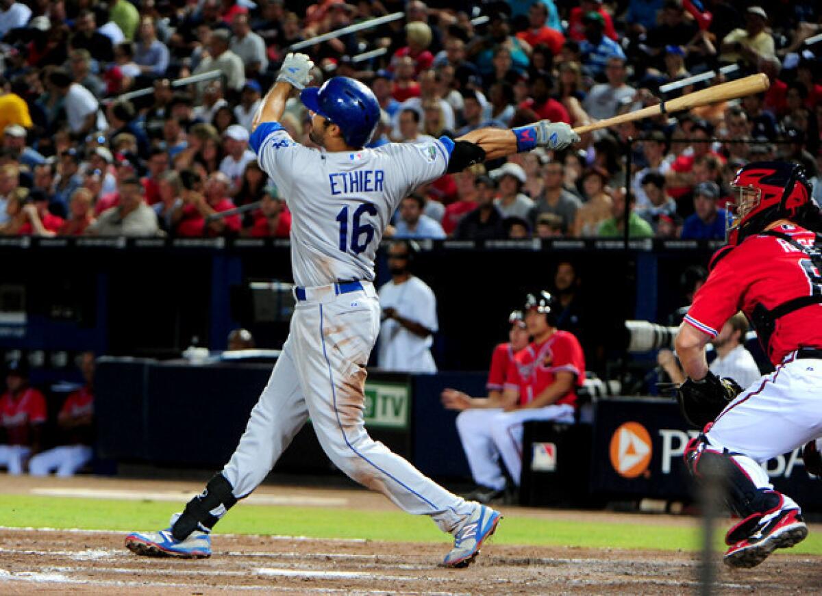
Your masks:
<instances>
[{"instance_id":1,"label":"red jersey of the front seated player in dark helmet","mask_svg":"<svg viewBox=\"0 0 822 596\"><path fill-rule=\"evenodd\" d=\"M585 380L585 356L579 340L567 331L556 331L542 344L532 342L524 350L517 352L508 366L506 389L519 391L520 406L525 406L554 383L554 375L561 370L574 373L576 387L582 387ZM554 403L576 406L575 390L571 389Z\"/></svg>"}]
</instances>

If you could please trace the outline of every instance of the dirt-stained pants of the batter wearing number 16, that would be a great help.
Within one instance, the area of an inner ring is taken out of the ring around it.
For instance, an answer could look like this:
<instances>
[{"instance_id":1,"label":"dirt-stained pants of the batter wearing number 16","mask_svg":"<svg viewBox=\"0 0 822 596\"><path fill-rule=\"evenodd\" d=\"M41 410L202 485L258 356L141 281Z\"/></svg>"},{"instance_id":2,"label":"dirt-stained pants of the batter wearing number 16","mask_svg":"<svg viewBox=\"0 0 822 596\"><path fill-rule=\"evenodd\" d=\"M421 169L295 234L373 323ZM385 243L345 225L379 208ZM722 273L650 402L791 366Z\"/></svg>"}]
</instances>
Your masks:
<instances>
[{"instance_id":1,"label":"dirt-stained pants of the batter wearing number 16","mask_svg":"<svg viewBox=\"0 0 822 596\"><path fill-rule=\"evenodd\" d=\"M333 286L307 288L308 300L294 309L289 337L223 475L235 497L247 496L310 415L323 450L340 470L451 532L475 505L366 432L365 364L380 328L380 303L372 284L362 283L363 291L339 296Z\"/></svg>"}]
</instances>

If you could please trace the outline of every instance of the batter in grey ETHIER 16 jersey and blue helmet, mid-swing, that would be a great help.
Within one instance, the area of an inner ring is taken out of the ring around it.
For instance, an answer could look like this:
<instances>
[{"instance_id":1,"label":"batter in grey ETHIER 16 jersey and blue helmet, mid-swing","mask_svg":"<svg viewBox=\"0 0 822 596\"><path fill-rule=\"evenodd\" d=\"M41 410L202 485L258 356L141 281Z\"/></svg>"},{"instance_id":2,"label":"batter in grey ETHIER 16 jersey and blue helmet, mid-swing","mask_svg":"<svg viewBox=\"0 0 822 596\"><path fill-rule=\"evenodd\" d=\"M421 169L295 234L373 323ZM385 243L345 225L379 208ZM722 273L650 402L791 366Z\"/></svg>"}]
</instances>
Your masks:
<instances>
[{"instance_id":1,"label":"batter in grey ETHIER 16 jersey and blue helmet, mid-swing","mask_svg":"<svg viewBox=\"0 0 822 596\"><path fill-rule=\"evenodd\" d=\"M289 54L252 123L249 141L292 213L291 259L297 305L289 337L246 432L224 469L188 502L168 530L129 534L144 555L208 557L210 530L266 478L311 416L326 454L340 470L384 493L409 513L431 516L454 535L444 565L477 556L500 514L466 502L427 479L363 424L365 364L380 327L372 285L382 233L399 201L446 172L535 147L563 149L579 140L569 126L540 121L520 129L480 129L457 140L363 149L380 118L371 90L334 77L304 89L313 64ZM312 115L310 137L296 143L279 125L293 89Z\"/></svg>"}]
</instances>

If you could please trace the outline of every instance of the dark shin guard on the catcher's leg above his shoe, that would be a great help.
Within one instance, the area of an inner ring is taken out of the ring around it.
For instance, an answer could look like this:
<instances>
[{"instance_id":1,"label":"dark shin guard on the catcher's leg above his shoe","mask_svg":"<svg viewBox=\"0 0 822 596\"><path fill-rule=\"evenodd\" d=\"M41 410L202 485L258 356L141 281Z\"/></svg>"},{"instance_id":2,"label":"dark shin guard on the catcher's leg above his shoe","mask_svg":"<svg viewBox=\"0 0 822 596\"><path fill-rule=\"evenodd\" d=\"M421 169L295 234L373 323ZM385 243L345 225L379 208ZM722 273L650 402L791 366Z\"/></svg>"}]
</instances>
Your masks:
<instances>
[{"instance_id":1,"label":"dark shin guard on the catcher's leg above his shoe","mask_svg":"<svg viewBox=\"0 0 822 596\"><path fill-rule=\"evenodd\" d=\"M732 453L727 449L722 452L713 449L704 434L688 442L685 464L697 482L715 479L723 485L728 505L746 522L745 528L754 527L760 517L782 507L780 493L756 486L741 465L734 461ZM737 530L744 529L739 527Z\"/></svg>"}]
</instances>

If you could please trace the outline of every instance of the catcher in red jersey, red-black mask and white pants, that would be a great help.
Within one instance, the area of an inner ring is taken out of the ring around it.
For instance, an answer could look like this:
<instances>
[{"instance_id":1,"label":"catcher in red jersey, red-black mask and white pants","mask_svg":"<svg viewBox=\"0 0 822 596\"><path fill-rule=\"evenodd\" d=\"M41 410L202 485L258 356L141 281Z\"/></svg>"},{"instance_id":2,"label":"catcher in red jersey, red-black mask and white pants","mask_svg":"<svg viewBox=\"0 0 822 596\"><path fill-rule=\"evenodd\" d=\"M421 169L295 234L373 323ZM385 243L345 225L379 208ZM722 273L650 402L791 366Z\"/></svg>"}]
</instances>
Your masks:
<instances>
[{"instance_id":1,"label":"catcher in red jersey, red-black mask and white pants","mask_svg":"<svg viewBox=\"0 0 822 596\"><path fill-rule=\"evenodd\" d=\"M713 256L676 346L688 377L681 408L704 426L686 447L686 465L697 480L724 480L741 518L725 537L724 561L753 567L808 534L797 503L774 490L760 463L809 442L808 470L822 471L813 442L822 435L822 236L812 231L822 217L793 163L749 163L732 189L728 244ZM706 344L739 309L776 366L745 390L705 360Z\"/></svg>"}]
</instances>

